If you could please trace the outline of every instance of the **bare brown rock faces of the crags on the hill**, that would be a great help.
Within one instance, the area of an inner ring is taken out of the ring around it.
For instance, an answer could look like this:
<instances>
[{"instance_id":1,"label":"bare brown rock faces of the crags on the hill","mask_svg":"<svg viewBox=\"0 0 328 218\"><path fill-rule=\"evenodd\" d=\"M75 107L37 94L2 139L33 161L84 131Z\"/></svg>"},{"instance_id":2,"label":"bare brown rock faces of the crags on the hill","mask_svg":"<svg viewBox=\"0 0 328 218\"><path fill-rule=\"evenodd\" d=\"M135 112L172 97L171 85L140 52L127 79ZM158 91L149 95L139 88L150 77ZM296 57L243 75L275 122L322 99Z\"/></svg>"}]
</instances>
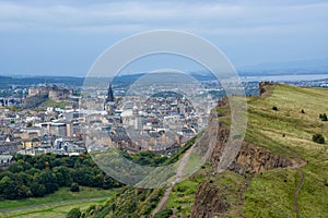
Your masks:
<instances>
[{"instance_id":1,"label":"bare brown rock faces of the crags on the hill","mask_svg":"<svg viewBox=\"0 0 328 218\"><path fill-rule=\"evenodd\" d=\"M220 108L229 109L226 99L221 100L218 108L212 110L208 130L200 142L201 144L213 145L213 153L210 158L213 169L218 168L230 134L227 126L220 122L220 117L229 114L218 112ZM246 172L258 173L263 170L284 168L291 165L292 160L273 154L265 147L244 141L235 160L230 165L227 170L245 175ZM203 181L198 185L190 217L210 218L214 214L226 211L229 208L230 204L220 194L220 189L212 185L209 181Z\"/></svg>"}]
</instances>

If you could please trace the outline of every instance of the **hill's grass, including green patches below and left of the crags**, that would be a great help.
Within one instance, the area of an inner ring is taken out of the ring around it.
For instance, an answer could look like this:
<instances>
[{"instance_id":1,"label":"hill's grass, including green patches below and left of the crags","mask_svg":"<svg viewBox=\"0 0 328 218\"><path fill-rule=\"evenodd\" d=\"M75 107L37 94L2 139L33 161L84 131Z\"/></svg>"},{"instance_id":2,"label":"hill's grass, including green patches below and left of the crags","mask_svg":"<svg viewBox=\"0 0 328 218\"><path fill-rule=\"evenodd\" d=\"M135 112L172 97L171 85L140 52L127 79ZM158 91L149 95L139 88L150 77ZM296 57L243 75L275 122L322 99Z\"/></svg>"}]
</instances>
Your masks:
<instances>
[{"instance_id":1,"label":"hill's grass, including green patches below and left of the crags","mask_svg":"<svg viewBox=\"0 0 328 218\"><path fill-rule=\"evenodd\" d=\"M196 180L191 178L177 184L169 195L167 208L177 216L191 213L200 181L220 189L222 198L230 205L218 217L325 217L328 214L328 122L319 119L320 113L328 113L328 89L276 84L267 90L262 97L247 99L245 141L293 159L293 166L246 178L227 170L213 177L212 170L206 167ZM274 106L278 110L272 110ZM227 109L218 111L226 113ZM229 124L226 119L220 118ZM321 133L326 144L314 143L315 133Z\"/></svg>"}]
</instances>

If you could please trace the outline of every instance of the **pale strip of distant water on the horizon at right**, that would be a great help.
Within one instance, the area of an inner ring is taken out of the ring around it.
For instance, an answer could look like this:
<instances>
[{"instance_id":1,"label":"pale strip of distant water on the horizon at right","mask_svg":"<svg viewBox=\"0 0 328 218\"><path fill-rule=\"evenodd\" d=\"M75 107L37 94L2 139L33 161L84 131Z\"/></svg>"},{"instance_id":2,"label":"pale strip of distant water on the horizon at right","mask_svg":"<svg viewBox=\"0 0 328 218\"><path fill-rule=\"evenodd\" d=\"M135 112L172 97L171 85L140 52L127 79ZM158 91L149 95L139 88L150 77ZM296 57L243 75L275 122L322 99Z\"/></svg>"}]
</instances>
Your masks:
<instances>
[{"instance_id":1,"label":"pale strip of distant water on the horizon at right","mask_svg":"<svg viewBox=\"0 0 328 218\"><path fill-rule=\"evenodd\" d=\"M243 82L297 82L297 81L316 81L328 78L328 74L308 74L308 75L274 75L274 76L241 76Z\"/></svg>"}]
</instances>

